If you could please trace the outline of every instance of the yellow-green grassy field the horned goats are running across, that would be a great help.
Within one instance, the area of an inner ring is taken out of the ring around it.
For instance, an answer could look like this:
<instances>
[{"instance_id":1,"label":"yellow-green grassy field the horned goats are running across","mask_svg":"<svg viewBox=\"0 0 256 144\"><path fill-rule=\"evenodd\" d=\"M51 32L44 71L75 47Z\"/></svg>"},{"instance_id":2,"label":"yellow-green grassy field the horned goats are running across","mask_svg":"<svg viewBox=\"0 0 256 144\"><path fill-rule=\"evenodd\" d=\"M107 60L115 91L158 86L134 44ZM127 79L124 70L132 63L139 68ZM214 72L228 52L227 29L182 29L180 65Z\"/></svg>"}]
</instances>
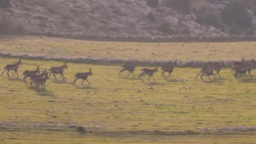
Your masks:
<instances>
[{"instance_id":1,"label":"yellow-green grassy field the horned goats are running across","mask_svg":"<svg viewBox=\"0 0 256 144\"><path fill-rule=\"evenodd\" d=\"M13 52L14 49L10 46L6 51ZM65 50L61 52L64 54ZM16 61L0 57L0 68ZM22 63L19 77L11 75L8 78L6 74L0 77L0 121L27 127L0 127L0 143L255 143L254 132L200 131L200 127L255 126L255 77L235 79L230 69L224 69L221 70L222 78L216 76L208 80L204 77L204 81L200 78L195 81L199 69L176 68L168 79L161 75L159 69L155 77L147 81L146 77L138 78L141 67L136 68L136 77L133 78L125 76L126 72L118 76L121 66L68 63L65 81L58 75L58 80L52 77L45 89L38 89L29 86L29 79L28 82L22 80L23 71L33 70L36 65L49 69L63 63L35 60L22 60ZM78 80L77 86L72 86L74 74L87 72L86 66L93 68L93 75L88 78L91 84L84 82L81 86L81 80ZM255 71L252 73L255 75ZM92 132L80 135L66 127L57 130L33 127L35 123L49 121L86 125ZM133 134L135 131L155 130L190 130L198 134Z\"/></svg>"}]
</instances>

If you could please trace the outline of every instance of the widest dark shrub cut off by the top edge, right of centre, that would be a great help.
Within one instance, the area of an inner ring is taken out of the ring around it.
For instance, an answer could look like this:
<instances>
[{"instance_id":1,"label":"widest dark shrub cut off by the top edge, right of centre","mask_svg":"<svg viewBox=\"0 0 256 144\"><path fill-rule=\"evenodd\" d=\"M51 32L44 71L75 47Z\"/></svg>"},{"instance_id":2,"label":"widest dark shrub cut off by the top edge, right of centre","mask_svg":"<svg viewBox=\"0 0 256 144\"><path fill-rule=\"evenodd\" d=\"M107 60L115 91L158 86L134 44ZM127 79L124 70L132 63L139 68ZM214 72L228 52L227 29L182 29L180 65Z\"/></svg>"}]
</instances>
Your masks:
<instances>
[{"instance_id":1,"label":"widest dark shrub cut off by the top edge, right of centre","mask_svg":"<svg viewBox=\"0 0 256 144\"><path fill-rule=\"evenodd\" d=\"M190 0L168 0L167 6L174 8L186 14L191 13L191 1Z\"/></svg>"}]
</instances>

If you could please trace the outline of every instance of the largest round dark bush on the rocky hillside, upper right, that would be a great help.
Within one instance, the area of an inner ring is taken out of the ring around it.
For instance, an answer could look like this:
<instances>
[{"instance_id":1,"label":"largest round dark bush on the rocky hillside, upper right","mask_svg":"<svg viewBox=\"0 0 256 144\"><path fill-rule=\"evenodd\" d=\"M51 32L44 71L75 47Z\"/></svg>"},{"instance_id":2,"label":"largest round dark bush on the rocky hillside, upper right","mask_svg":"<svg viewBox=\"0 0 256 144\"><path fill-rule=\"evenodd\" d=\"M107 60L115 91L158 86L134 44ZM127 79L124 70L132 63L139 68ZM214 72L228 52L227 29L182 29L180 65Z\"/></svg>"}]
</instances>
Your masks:
<instances>
[{"instance_id":1,"label":"largest round dark bush on the rocky hillside, upper right","mask_svg":"<svg viewBox=\"0 0 256 144\"><path fill-rule=\"evenodd\" d=\"M221 13L222 21L231 25L235 22L239 26L251 26L252 18L247 13L246 6L243 1L235 0L230 2Z\"/></svg>"}]
</instances>

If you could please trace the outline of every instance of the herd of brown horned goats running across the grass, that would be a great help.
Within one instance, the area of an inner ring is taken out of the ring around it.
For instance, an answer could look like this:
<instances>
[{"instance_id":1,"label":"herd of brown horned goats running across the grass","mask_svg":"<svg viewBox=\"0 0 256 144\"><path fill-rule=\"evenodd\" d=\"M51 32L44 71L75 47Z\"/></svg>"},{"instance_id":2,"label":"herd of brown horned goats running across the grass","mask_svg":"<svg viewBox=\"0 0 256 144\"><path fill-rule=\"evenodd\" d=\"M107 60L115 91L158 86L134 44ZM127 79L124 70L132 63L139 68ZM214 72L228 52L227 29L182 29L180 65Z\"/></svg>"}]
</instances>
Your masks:
<instances>
[{"instance_id":1,"label":"herd of brown horned goats running across the grass","mask_svg":"<svg viewBox=\"0 0 256 144\"><path fill-rule=\"evenodd\" d=\"M10 65L6 65L4 67L4 70L3 72L1 73L1 76L3 75L3 73L5 71L7 71L7 75L8 77L10 76L8 73L10 70L13 70L15 73L14 74L18 74L17 70L18 70L18 67L19 65L22 65L22 62L21 62L21 58L19 58L19 61L15 64L10 64ZM162 74L164 74L165 72L168 72L168 76L170 76L170 74L173 72L174 70L174 67L175 65L177 65L177 60L175 60L175 62L173 63L168 63L168 64L163 64L161 69L162 69ZM250 59L250 60L244 60L244 58L242 58L242 61L234 61L232 63L232 71L234 71L234 76L237 78L237 75L238 74L246 74L246 72L248 72L248 74L251 74L251 70L256 66L256 61L255 59ZM220 70L222 69L222 67L224 67L224 61L219 61L219 62L209 62L209 63L205 63L205 65L201 68L201 70L198 72L198 75L196 76L195 79L197 79L197 77L201 74L201 79L202 77L205 75L205 76L208 76L208 79L209 79L209 76L212 75L214 76L213 72L214 70L218 73L218 75L220 76ZM92 68L89 68L87 67L89 72L84 72L84 73L77 73L75 74L75 80L73 81L73 85L76 84L76 81L77 79L83 79L81 85L83 85L83 82L86 80L88 83L90 83L87 78L88 76L90 75L93 75L92 74ZM134 70L136 68L136 64L124 64L122 66L122 70L120 70L119 74L123 71L129 71L129 74L133 74L134 76ZM23 72L23 75L24 75L24 79L26 79L27 77L30 77L30 85L32 87L32 85L34 84L36 87L39 87L39 86L45 86L45 83L46 83L46 80L47 79L50 79L51 77L51 74L54 75L54 78L56 78L55 74L61 74L62 78L65 79L65 77L63 76L63 71L64 69L67 69L67 63L65 62L64 65L60 66L60 67L51 67L49 69L49 76L48 76L48 72L47 72L47 69L43 69L44 71L40 73L40 66L37 67L36 70L34 71L31 71L31 70L25 70ZM158 72L158 69L157 67L155 67L155 69L148 69L148 68L143 68L141 69L141 73L139 74L139 77L142 77L144 75L148 75L148 81L150 80L150 77L153 76L153 74L155 72ZM13 74L13 75L14 75ZM134 76L135 77L135 76Z\"/></svg>"}]
</instances>

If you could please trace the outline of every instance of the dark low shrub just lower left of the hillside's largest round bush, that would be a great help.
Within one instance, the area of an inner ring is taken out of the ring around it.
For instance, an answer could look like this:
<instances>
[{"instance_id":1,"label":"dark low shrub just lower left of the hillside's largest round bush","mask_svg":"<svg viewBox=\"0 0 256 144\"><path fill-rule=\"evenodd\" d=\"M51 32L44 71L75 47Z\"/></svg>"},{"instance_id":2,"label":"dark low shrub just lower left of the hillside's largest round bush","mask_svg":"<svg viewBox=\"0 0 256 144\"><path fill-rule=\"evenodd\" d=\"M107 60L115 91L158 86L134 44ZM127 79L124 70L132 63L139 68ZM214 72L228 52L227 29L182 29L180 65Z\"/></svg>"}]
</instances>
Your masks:
<instances>
[{"instance_id":1,"label":"dark low shrub just lower left of the hillside's largest round bush","mask_svg":"<svg viewBox=\"0 0 256 144\"><path fill-rule=\"evenodd\" d=\"M209 26L214 26L216 28L221 27L223 24L221 22L221 19L212 13L207 13L205 15L198 15L195 20L199 24L206 24Z\"/></svg>"}]
</instances>

